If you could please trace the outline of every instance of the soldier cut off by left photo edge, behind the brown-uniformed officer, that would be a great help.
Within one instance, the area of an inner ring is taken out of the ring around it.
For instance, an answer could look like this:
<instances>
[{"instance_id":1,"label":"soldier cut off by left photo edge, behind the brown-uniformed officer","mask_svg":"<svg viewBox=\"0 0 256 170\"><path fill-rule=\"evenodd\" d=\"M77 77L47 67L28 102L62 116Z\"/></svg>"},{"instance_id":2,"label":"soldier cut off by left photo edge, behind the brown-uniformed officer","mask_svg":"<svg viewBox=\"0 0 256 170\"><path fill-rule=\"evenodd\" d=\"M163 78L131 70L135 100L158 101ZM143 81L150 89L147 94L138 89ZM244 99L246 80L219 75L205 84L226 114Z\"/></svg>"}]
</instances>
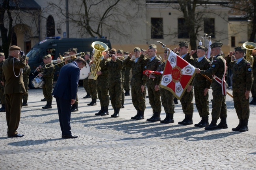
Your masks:
<instances>
[{"instance_id":1,"label":"soldier cut off by left photo edge, behind the brown-uniformed officer","mask_svg":"<svg viewBox=\"0 0 256 170\"><path fill-rule=\"evenodd\" d=\"M2 107L0 109L0 112L6 111L6 97L4 95L4 80L3 80L3 70L2 66L4 64L4 53L0 52L0 101L2 104Z\"/></svg>"}]
</instances>

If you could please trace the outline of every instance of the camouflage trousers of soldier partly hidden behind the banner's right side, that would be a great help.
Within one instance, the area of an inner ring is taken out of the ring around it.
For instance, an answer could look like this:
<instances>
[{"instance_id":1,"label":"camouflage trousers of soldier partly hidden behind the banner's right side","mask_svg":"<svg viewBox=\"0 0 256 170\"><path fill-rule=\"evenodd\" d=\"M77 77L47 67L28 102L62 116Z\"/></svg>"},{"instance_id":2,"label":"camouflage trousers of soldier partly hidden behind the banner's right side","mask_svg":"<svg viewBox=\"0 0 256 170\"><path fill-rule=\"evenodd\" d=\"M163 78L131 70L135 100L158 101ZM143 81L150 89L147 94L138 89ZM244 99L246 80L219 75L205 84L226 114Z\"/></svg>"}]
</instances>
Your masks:
<instances>
[{"instance_id":1,"label":"camouflage trousers of soldier partly hidden behind the banner's right side","mask_svg":"<svg viewBox=\"0 0 256 170\"><path fill-rule=\"evenodd\" d=\"M193 88L190 90L190 92L187 92L187 89L186 89L182 98L180 99L180 103L182 105L182 110L184 114L193 115L193 112L194 112L193 97L194 97Z\"/></svg>"}]
</instances>

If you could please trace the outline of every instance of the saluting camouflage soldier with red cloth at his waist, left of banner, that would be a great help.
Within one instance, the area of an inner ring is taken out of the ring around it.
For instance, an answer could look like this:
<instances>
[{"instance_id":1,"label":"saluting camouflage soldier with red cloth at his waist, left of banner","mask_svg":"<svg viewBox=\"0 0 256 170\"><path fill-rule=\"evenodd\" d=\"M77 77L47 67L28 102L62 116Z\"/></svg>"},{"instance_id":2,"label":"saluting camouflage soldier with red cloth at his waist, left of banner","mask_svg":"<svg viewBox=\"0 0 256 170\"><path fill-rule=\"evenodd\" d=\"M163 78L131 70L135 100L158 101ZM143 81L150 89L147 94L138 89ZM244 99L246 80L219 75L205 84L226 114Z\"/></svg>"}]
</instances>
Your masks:
<instances>
[{"instance_id":1,"label":"saluting camouflage soldier with red cloth at his waist, left of banner","mask_svg":"<svg viewBox=\"0 0 256 170\"><path fill-rule=\"evenodd\" d=\"M146 54L150 58L146 60L145 70L156 71L161 64L161 60L156 56L156 45L151 44L148 46L148 50L140 56L140 58L144 58ZM143 79L147 78L147 88L148 88L148 99L149 104L153 109L153 116L148 118L147 121L160 121L161 114L161 101L160 101L160 91L159 84L161 81L160 77L156 77L155 79L149 78L143 75Z\"/></svg>"}]
</instances>

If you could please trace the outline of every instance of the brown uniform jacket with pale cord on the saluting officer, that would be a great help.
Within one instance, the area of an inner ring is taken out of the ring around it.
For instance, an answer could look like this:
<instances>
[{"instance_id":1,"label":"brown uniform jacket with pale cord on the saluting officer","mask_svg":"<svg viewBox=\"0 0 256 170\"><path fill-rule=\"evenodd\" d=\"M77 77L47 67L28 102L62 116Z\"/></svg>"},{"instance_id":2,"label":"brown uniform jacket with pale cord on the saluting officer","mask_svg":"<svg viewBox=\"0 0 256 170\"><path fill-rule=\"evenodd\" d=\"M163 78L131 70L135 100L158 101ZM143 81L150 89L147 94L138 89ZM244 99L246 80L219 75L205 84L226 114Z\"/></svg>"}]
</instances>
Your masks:
<instances>
[{"instance_id":1,"label":"brown uniform jacket with pale cord on the saluting officer","mask_svg":"<svg viewBox=\"0 0 256 170\"><path fill-rule=\"evenodd\" d=\"M13 61L13 58L14 58L14 61ZM26 56L21 56L20 60L18 60L13 56L9 56L6 59L6 61L4 61L4 64L2 67L3 80L5 83L4 94L26 93L22 72L20 72L20 69L22 69L26 65L25 58ZM20 73L20 76L16 77L14 75L13 70L16 76L19 76L19 73Z\"/></svg>"}]
</instances>

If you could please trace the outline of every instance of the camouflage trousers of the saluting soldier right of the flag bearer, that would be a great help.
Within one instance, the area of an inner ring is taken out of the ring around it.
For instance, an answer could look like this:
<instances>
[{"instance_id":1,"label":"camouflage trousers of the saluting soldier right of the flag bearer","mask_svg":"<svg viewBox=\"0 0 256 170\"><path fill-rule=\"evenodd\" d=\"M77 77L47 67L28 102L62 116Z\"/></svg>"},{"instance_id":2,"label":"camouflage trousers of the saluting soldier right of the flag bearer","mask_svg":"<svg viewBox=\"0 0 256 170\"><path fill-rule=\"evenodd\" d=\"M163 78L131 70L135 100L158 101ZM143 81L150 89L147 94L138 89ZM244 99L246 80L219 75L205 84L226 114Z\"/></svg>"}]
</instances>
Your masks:
<instances>
[{"instance_id":1,"label":"camouflage trousers of the saluting soldier right of the flag bearer","mask_svg":"<svg viewBox=\"0 0 256 170\"><path fill-rule=\"evenodd\" d=\"M234 106L236 109L236 114L238 119L249 119L250 116L250 107L249 107L249 98L245 99L246 84L236 86L233 83L233 98Z\"/></svg>"}]
</instances>

